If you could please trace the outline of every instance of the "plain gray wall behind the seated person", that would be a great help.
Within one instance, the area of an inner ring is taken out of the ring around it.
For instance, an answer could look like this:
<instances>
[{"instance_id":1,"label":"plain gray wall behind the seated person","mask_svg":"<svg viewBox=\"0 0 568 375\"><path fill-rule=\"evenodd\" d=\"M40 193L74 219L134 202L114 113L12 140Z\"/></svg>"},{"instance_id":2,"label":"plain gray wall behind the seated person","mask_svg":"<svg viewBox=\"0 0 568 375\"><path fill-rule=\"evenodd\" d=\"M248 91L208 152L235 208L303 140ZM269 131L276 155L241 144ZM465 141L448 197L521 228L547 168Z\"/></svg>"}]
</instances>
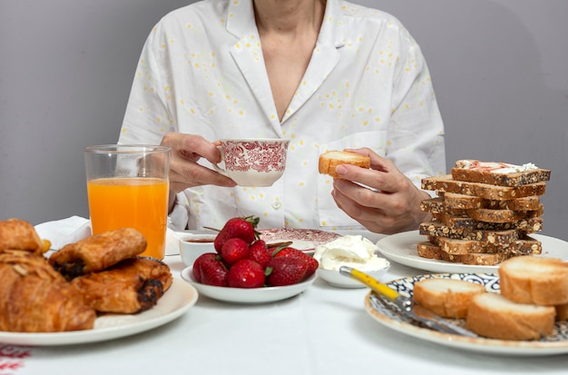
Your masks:
<instances>
[{"instance_id":1,"label":"plain gray wall behind the seated person","mask_svg":"<svg viewBox=\"0 0 568 375\"><path fill-rule=\"evenodd\" d=\"M568 2L356 0L422 45L446 159L552 169L543 234L568 240ZM191 0L0 0L0 220L88 217L83 147L115 143L146 35Z\"/></svg>"}]
</instances>

